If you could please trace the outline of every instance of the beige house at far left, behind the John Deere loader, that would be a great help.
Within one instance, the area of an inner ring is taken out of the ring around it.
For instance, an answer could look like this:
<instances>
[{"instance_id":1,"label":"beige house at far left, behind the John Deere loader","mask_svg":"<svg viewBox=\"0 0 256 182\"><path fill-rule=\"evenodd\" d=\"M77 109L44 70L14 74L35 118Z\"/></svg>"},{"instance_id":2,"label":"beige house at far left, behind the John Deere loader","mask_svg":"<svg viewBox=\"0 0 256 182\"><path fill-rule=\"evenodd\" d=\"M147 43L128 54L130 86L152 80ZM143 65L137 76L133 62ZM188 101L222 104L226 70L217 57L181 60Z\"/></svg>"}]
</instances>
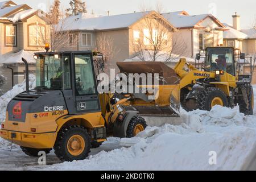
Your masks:
<instances>
[{"instance_id":1,"label":"beige house at far left, behind the John Deere loader","mask_svg":"<svg viewBox=\"0 0 256 182\"><path fill-rule=\"evenodd\" d=\"M10 90L24 80L21 57L31 64L31 73L35 72L32 52L44 48L49 31L41 10L16 5L13 1L0 2L0 72L7 77L1 89Z\"/></svg>"}]
</instances>

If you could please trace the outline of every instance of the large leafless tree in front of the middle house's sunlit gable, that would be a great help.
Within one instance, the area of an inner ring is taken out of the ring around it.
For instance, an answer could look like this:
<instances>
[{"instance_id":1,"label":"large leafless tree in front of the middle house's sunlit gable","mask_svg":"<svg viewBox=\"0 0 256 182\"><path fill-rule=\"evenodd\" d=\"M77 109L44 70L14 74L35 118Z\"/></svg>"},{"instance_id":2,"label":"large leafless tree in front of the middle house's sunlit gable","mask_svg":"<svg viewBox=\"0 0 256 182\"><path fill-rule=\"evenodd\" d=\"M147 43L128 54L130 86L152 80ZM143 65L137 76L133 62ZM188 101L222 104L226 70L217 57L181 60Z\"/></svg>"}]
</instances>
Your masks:
<instances>
[{"instance_id":1,"label":"large leafless tree in front of the middle house's sunlit gable","mask_svg":"<svg viewBox=\"0 0 256 182\"><path fill-rule=\"evenodd\" d=\"M141 10L146 15L146 11L154 9L142 5ZM162 4L156 3L155 11L161 13ZM187 50L183 38L174 36L174 28L171 28L170 23L157 13L146 16L142 26L134 30L133 34L134 56L142 61L170 62L179 59L180 55L184 55Z\"/></svg>"}]
</instances>

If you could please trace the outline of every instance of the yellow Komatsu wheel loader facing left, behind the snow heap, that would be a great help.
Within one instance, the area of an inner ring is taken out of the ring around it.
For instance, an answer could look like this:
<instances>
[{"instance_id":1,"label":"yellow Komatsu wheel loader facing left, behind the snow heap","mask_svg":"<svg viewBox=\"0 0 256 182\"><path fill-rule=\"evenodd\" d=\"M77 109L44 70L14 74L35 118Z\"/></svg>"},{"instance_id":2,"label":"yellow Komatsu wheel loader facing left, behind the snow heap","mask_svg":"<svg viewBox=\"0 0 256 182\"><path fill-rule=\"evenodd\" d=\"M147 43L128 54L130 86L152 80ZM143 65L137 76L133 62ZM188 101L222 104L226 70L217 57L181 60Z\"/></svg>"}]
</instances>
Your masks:
<instances>
[{"instance_id":1,"label":"yellow Komatsu wheel loader facing left, behind the snow heap","mask_svg":"<svg viewBox=\"0 0 256 182\"><path fill-rule=\"evenodd\" d=\"M196 55L195 65L180 59L174 70L180 78L180 101L185 110L239 105L241 113L253 114L254 61L239 49L208 47Z\"/></svg>"}]
</instances>

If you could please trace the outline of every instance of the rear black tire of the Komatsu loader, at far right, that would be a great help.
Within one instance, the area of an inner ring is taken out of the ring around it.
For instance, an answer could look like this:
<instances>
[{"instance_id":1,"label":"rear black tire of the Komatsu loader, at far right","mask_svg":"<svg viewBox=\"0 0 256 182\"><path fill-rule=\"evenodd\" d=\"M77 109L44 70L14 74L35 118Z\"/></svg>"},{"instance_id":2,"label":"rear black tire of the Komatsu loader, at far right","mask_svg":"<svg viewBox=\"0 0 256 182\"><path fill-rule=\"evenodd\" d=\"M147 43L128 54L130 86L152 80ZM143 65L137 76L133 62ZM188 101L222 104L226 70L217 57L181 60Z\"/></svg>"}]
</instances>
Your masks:
<instances>
[{"instance_id":1,"label":"rear black tire of the Komatsu loader, at far right","mask_svg":"<svg viewBox=\"0 0 256 182\"><path fill-rule=\"evenodd\" d=\"M245 101L241 98L238 101L239 110L240 113L243 113L245 115L253 115L253 107L254 107L254 94L253 94L253 86L250 86L250 88L246 89L247 91L247 97L249 101L249 108L246 108L247 105Z\"/></svg>"}]
</instances>

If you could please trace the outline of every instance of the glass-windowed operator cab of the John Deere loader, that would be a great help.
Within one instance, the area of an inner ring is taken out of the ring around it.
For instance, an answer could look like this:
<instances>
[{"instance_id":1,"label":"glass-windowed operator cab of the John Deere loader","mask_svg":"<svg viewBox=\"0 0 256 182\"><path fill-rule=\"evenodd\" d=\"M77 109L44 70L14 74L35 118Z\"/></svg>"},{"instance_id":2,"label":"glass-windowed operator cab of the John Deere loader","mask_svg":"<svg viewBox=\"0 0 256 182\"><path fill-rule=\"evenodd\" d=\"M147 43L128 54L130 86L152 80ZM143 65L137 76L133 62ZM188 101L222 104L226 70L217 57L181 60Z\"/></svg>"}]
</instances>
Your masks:
<instances>
[{"instance_id":1,"label":"glass-windowed operator cab of the John Deere loader","mask_svg":"<svg viewBox=\"0 0 256 182\"><path fill-rule=\"evenodd\" d=\"M34 58L37 92L60 90L69 114L100 111L92 51L38 52Z\"/></svg>"}]
</instances>

